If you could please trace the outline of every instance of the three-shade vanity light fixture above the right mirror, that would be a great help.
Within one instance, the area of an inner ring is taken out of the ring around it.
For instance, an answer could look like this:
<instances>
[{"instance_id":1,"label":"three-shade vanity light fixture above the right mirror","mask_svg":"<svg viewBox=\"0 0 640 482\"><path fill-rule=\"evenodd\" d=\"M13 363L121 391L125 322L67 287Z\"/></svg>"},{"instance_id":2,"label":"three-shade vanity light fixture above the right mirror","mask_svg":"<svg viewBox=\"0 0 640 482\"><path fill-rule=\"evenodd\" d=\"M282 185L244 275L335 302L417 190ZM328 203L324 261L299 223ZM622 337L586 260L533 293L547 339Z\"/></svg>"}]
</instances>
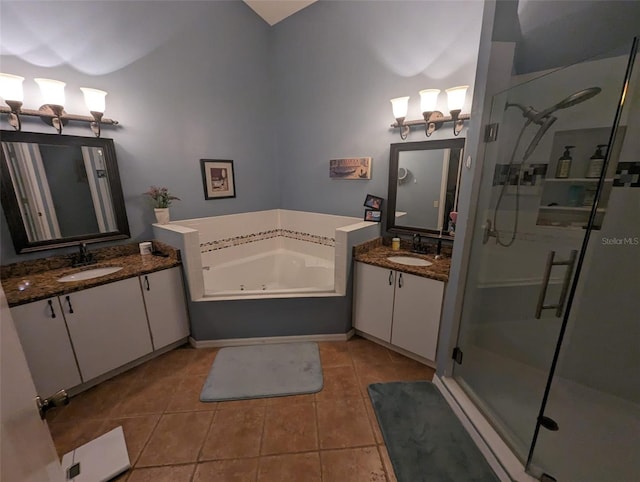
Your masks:
<instances>
[{"instance_id":1,"label":"three-shade vanity light fixture above the right mirror","mask_svg":"<svg viewBox=\"0 0 640 482\"><path fill-rule=\"evenodd\" d=\"M471 118L469 114L462 114L462 107L464 106L468 88L468 85L463 85L446 89L450 114L450 116L446 117L442 112L436 110L438 95L440 94L440 90L438 89L425 89L420 91L420 110L422 111L423 117L420 120L405 120L409 97L391 99L393 116L396 118L396 122L391 124L391 127L399 127L400 138L405 140L412 126L424 126L426 136L431 137L445 122L453 122L453 135L457 136L462 132L464 121Z\"/></svg>"}]
</instances>

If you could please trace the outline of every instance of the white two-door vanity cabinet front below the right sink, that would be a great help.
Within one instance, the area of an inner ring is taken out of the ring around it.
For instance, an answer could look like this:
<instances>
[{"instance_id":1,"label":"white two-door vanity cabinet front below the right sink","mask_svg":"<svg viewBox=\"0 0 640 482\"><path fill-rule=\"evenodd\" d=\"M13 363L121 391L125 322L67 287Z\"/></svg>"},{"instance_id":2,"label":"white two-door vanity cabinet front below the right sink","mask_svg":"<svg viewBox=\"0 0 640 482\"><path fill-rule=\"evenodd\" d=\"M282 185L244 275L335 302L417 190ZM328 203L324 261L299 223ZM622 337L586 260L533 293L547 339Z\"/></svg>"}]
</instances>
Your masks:
<instances>
[{"instance_id":1,"label":"white two-door vanity cabinet front below the right sink","mask_svg":"<svg viewBox=\"0 0 640 482\"><path fill-rule=\"evenodd\" d=\"M354 327L435 360L444 282L356 263Z\"/></svg>"}]
</instances>

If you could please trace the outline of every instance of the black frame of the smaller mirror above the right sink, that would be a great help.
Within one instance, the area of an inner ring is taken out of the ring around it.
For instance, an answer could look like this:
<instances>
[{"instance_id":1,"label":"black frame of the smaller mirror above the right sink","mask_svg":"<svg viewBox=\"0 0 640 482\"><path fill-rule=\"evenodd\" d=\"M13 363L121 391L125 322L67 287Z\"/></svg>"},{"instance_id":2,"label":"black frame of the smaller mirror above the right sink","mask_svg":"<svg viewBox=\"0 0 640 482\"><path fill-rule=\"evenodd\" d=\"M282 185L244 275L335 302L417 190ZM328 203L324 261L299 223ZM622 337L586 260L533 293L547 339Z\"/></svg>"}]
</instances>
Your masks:
<instances>
[{"instance_id":1,"label":"black frame of the smaller mirror above the right sink","mask_svg":"<svg viewBox=\"0 0 640 482\"><path fill-rule=\"evenodd\" d=\"M403 151L427 151L436 149L461 149L464 152L465 138L443 139L437 141L398 142L391 144L389 153L389 187L387 190L387 231L398 234L421 233L427 237L440 239L455 239L448 234L442 234L435 229L427 229L414 226L402 226L396 224L396 196L398 194L398 164L400 153ZM462 159L462 153L460 158ZM458 181L460 172L458 172ZM457 195L457 192L456 192ZM456 199L457 204L457 199Z\"/></svg>"}]
</instances>

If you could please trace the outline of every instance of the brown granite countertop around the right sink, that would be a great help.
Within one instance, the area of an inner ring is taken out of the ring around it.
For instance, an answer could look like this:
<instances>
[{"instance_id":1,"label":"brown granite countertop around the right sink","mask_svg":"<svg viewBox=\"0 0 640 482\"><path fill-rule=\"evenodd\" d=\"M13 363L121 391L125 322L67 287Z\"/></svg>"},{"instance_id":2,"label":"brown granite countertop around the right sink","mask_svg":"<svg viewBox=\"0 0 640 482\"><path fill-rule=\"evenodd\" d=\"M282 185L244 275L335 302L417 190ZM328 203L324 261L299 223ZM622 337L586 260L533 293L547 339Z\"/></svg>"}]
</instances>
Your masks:
<instances>
[{"instance_id":1,"label":"brown granite countertop around the right sink","mask_svg":"<svg viewBox=\"0 0 640 482\"><path fill-rule=\"evenodd\" d=\"M411 256L425 259L433 264L431 266L409 266L389 261L387 259L389 256ZM417 254L408 249L406 244L403 244L399 251L393 251L390 246L382 244L381 238L355 246L353 249L353 259L361 263L393 269L437 281L449 281L449 269L451 267L450 257L445 255L441 259L435 259L435 256L431 254Z\"/></svg>"}]
</instances>

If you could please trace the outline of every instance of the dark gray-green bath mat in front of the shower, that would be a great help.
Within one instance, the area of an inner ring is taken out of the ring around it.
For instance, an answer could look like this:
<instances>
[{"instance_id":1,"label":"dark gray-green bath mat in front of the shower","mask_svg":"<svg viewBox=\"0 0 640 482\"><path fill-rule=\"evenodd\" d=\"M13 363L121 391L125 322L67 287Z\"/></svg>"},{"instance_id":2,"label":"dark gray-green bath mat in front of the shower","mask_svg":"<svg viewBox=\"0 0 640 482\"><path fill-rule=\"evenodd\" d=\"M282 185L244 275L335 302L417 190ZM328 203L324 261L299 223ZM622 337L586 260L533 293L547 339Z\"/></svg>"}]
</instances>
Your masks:
<instances>
[{"instance_id":1,"label":"dark gray-green bath mat in front of the shower","mask_svg":"<svg viewBox=\"0 0 640 482\"><path fill-rule=\"evenodd\" d=\"M431 382L369 385L398 482L497 482L484 456Z\"/></svg>"}]
</instances>

